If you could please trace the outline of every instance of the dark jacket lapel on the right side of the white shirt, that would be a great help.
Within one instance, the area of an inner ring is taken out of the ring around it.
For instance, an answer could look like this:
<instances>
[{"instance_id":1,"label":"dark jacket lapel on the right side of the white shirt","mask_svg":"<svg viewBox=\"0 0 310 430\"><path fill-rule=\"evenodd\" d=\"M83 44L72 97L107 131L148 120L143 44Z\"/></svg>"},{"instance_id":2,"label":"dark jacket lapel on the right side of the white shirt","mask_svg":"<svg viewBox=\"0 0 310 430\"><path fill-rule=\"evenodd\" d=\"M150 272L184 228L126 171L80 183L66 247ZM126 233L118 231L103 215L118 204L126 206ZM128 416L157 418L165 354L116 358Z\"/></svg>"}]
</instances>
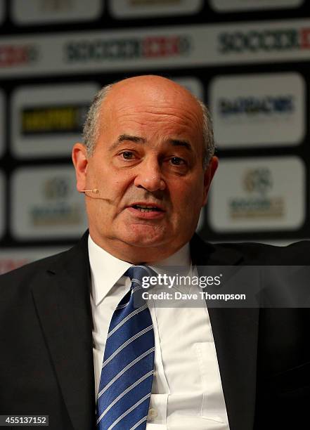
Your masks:
<instances>
[{"instance_id":1,"label":"dark jacket lapel on the right side of the white shirt","mask_svg":"<svg viewBox=\"0 0 310 430\"><path fill-rule=\"evenodd\" d=\"M190 249L193 263L197 266L233 266L244 263L243 255L235 249L205 244L197 235L190 242ZM252 429L259 309L208 306L208 312L230 429Z\"/></svg>"}]
</instances>

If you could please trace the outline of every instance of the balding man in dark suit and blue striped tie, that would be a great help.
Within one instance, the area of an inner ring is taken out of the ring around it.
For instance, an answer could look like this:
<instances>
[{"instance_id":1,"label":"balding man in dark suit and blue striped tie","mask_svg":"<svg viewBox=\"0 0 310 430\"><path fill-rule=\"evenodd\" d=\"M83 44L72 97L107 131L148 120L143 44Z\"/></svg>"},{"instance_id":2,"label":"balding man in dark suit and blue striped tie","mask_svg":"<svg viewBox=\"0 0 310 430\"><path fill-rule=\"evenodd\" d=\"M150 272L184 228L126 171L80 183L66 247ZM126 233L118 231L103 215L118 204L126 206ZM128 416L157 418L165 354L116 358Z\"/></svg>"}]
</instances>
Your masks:
<instances>
[{"instance_id":1,"label":"balding man in dark suit and blue striped tie","mask_svg":"<svg viewBox=\"0 0 310 430\"><path fill-rule=\"evenodd\" d=\"M205 107L169 79L103 89L84 136L72 159L89 233L68 252L1 277L1 414L49 415L58 430L306 428L307 310L148 301L151 394L131 400L138 382L113 391L105 349L117 309L129 304L132 266L306 265L309 245L207 245L194 235L217 158ZM110 403L102 403L107 387ZM127 425L142 405L142 418Z\"/></svg>"}]
</instances>

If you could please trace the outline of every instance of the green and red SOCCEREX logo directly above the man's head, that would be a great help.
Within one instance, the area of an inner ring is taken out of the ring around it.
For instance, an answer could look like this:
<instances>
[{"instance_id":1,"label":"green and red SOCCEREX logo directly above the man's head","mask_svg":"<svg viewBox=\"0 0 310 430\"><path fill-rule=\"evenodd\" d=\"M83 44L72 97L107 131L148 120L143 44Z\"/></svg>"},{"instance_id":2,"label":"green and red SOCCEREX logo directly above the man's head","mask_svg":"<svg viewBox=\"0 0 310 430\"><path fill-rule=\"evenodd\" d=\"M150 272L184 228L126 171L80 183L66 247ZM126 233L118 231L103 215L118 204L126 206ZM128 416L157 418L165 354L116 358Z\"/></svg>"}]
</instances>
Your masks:
<instances>
[{"instance_id":1,"label":"green and red SOCCEREX logo directly above the man's head","mask_svg":"<svg viewBox=\"0 0 310 430\"><path fill-rule=\"evenodd\" d=\"M69 41L64 51L69 63L186 56L190 38L176 35Z\"/></svg>"}]
</instances>

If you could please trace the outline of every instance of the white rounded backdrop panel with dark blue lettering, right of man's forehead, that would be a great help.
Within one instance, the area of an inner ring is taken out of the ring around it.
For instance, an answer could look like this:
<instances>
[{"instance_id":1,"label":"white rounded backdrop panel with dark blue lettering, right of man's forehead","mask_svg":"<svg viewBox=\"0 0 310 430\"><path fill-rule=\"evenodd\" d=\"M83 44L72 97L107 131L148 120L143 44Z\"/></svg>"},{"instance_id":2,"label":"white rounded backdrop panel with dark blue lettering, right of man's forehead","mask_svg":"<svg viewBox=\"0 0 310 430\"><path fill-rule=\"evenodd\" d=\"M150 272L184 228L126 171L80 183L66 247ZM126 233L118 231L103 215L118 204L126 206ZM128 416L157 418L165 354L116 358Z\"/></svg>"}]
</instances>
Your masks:
<instances>
[{"instance_id":1,"label":"white rounded backdrop panel with dark blue lettering, right of man's forehead","mask_svg":"<svg viewBox=\"0 0 310 430\"><path fill-rule=\"evenodd\" d=\"M304 79L297 73L216 77L209 100L219 147L301 143L304 94Z\"/></svg>"}]
</instances>

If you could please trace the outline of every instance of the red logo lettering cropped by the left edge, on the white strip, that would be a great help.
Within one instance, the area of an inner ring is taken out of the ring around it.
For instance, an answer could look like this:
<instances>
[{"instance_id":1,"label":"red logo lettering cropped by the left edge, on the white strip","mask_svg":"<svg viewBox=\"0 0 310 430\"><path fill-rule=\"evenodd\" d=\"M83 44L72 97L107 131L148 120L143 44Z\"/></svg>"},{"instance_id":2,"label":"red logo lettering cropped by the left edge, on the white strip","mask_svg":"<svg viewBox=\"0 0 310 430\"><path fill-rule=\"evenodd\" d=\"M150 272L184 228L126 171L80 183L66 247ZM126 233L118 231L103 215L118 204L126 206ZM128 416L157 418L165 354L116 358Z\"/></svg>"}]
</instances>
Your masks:
<instances>
[{"instance_id":1,"label":"red logo lettering cropped by the left edge, on the white strip","mask_svg":"<svg viewBox=\"0 0 310 430\"><path fill-rule=\"evenodd\" d=\"M39 58L39 48L32 44L3 44L0 46L0 67L32 65Z\"/></svg>"}]
</instances>

